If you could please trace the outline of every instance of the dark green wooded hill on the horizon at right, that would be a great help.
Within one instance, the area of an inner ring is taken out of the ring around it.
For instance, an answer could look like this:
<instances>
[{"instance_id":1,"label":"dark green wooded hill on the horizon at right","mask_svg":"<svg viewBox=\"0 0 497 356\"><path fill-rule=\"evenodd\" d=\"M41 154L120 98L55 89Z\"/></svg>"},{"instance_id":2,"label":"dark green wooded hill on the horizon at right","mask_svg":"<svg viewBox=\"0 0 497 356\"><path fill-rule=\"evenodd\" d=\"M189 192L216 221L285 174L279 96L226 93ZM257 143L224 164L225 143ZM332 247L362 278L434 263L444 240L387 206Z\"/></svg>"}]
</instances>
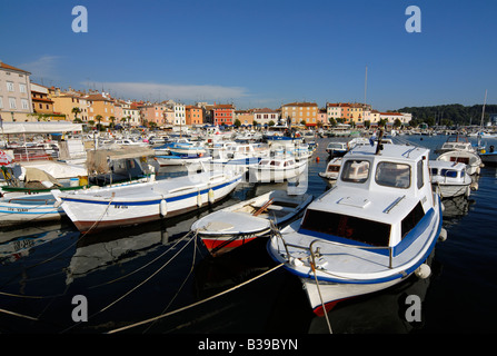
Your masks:
<instances>
[{"instance_id":1,"label":"dark green wooded hill on the horizon at right","mask_svg":"<svg viewBox=\"0 0 497 356\"><path fill-rule=\"evenodd\" d=\"M439 105L434 107L408 107L401 108L399 112L412 113L411 125L416 126L426 122L429 126L466 126L480 125L483 105L474 105L465 107L460 103ZM489 120L490 113L497 113L497 105L485 106L485 120Z\"/></svg>"}]
</instances>

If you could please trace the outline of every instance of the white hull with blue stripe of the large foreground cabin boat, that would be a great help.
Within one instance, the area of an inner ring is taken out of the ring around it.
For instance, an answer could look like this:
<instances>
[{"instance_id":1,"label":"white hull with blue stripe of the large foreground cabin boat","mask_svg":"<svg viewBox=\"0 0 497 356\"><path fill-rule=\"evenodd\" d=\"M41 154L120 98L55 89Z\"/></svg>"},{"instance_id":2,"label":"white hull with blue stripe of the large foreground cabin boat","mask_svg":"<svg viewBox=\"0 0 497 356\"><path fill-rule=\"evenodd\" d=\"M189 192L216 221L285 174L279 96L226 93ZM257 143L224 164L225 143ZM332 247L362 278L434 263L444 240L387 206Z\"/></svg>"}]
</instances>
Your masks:
<instances>
[{"instance_id":1,"label":"white hull with blue stripe of the large foreground cabin boat","mask_svg":"<svg viewBox=\"0 0 497 356\"><path fill-rule=\"evenodd\" d=\"M407 263L404 261L399 266L397 266L397 261L394 259L392 268L388 267L388 263L385 263L388 259L388 256L386 256L382 260L374 260L371 258L371 265L382 265L385 266L382 269L379 268L375 273L345 273L340 276L340 271L337 273L336 270L327 268L327 261L320 265L319 259L317 259L315 268L312 268L310 264L302 264L301 258L294 257L298 255L292 255L291 250L290 258L287 258L285 256L286 249L278 241L279 237L272 236L268 241L267 249L277 263L285 264L285 268L301 280L314 313L316 315L322 315L325 310L329 312L340 300L389 288L412 275L431 254L441 231L441 204L438 197L436 201L437 204L433 211L427 214L426 219L419 224L419 236L412 239L407 247L402 247L405 251L401 254L411 254L412 256L408 258ZM310 241L312 239L315 238L311 238ZM406 237L406 241L408 239L410 238ZM319 246L326 248L325 241ZM369 258L367 254L361 253L362 255L356 256L354 254L347 249L322 250L322 255L336 256L335 258L337 260L340 258L345 258L344 260L356 258L358 260L367 260ZM307 258L310 258L309 255L307 255ZM374 258L378 258L378 256ZM405 258L405 256L401 257L401 259ZM316 279L318 280L317 283Z\"/></svg>"}]
</instances>

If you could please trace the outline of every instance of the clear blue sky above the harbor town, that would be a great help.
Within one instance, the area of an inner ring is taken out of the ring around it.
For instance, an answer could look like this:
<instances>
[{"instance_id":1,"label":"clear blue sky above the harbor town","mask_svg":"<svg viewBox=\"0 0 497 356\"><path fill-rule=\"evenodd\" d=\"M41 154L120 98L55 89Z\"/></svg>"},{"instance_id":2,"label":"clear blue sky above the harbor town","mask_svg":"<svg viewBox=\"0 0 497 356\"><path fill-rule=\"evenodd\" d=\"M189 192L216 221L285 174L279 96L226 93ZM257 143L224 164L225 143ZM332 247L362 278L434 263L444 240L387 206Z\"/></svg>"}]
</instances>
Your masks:
<instances>
[{"instance_id":1,"label":"clear blue sky above the harbor town","mask_svg":"<svg viewBox=\"0 0 497 356\"><path fill-rule=\"evenodd\" d=\"M76 33L72 8L88 10ZM421 32L408 33L408 6ZM365 100L378 110L497 103L494 0L19 0L2 2L0 60L46 86L138 100Z\"/></svg>"}]
</instances>

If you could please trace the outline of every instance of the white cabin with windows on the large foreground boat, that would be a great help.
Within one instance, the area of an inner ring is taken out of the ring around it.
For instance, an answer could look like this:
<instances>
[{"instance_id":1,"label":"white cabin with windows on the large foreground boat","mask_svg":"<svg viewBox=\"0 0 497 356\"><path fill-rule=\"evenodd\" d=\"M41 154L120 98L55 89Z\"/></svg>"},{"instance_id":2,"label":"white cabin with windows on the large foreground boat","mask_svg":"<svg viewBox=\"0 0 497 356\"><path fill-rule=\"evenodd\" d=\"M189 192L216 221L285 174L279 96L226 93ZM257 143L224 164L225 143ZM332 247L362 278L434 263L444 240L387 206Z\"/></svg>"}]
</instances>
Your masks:
<instances>
[{"instance_id":1,"label":"white cabin with windows on the large foreground boat","mask_svg":"<svg viewBox=\"0 0 497 356\"><path fill-rule=\"evenodd\" d=\"M428 154L398 145L386 145L378 154L370 146L351 149L337 184L309 206L300 229L359 246L408 244L420 234L417 224L434 212Z\"/></svg>"}]
</instances>

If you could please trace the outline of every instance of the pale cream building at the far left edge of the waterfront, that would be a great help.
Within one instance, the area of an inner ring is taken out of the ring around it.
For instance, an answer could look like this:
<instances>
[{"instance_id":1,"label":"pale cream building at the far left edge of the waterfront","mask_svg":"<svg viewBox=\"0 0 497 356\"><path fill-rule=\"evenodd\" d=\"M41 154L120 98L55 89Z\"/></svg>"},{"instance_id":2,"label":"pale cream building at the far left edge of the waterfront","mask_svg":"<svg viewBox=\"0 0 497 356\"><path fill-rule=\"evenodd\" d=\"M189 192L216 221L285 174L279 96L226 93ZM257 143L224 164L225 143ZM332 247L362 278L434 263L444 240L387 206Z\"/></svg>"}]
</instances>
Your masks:
<instances>
[{"instance_id":1,"label":"pale cream building at the far left edge of the waterfront","mask_svg":"<svg viewBox=\"0 0 497 356\"><path fill-rule=\"evenodd\" d=\"M31 115L31 73L0 60L0 115L4 121L36 121Z\"/></svg>"}]
</instances>

